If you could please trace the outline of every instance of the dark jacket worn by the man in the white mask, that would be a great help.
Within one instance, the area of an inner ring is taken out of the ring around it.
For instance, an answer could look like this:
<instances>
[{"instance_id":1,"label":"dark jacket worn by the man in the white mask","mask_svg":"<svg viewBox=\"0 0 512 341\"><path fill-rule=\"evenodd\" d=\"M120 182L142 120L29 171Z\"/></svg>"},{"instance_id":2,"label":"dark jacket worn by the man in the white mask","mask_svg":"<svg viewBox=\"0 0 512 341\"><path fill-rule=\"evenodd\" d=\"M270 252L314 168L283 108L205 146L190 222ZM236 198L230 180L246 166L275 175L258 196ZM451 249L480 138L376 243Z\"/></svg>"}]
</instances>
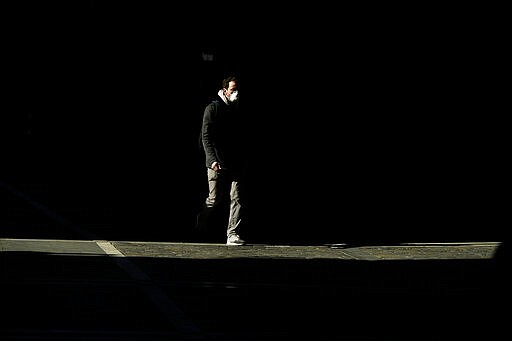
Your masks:
<instances>
[{"instance_id":1,"label":"dark jacket worn by the man in the white mask","mask_svg":"<svg viewBox=\"0 0 512 341\"><path fill-rule=\"evenodd\" d=\"M238 103L227 105L222 99L208 104L203 113L201 143L206 167L217 161L224 169L239 169L246 164L246 118Z\"/></svg>"}]
</instances>

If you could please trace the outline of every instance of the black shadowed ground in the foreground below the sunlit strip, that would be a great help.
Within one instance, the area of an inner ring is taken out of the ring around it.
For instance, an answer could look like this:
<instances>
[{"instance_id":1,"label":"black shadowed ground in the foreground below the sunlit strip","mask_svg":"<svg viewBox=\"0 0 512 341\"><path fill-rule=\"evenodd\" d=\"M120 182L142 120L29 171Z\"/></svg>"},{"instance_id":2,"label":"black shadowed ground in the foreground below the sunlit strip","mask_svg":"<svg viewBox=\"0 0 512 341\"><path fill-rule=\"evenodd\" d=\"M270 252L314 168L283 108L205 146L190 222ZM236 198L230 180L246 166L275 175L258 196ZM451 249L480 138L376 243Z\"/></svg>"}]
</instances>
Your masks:
<instances>
[{"instance_id":1,"label":"black shadowed ground in the foreground below the sunlit strip","mask_svg":"<svg viewBox=\"0 0 512 341\"><path fill-rule=\"evenodd\" d=\"M0 256L8 293L2 333L13 337L77 330L159 340L176 330L148 302L145 285L162 288L207 340L497 337L504 310L495 303L508 302L491 260L128 258L149 275L147 283L129 279L106 256Z\"/></svg>"}]
</instances>

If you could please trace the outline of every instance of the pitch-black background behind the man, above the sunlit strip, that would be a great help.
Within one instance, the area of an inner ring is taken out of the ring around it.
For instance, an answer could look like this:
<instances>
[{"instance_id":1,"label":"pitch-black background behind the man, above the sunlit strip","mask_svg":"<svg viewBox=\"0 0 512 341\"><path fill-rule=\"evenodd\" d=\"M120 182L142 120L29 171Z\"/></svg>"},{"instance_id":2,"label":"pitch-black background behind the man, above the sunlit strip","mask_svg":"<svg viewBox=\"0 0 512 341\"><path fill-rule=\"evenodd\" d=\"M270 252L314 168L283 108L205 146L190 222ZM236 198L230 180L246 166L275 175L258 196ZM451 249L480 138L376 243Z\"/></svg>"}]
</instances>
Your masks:
<instances>
[{"instance_id":1,"label":"pitch-black background behind the man, above the sunlit strip","mask_svg":"<svg viewBox=\"0 0 512 341\"><path fill-rule=\"evenodd\" d=\"M231 72L252 117L254 240L502 239L503 50L484 12L15 7L6 177L112 207L119 239L188 235L202 111Z\"/></svg>"}]
</instances>

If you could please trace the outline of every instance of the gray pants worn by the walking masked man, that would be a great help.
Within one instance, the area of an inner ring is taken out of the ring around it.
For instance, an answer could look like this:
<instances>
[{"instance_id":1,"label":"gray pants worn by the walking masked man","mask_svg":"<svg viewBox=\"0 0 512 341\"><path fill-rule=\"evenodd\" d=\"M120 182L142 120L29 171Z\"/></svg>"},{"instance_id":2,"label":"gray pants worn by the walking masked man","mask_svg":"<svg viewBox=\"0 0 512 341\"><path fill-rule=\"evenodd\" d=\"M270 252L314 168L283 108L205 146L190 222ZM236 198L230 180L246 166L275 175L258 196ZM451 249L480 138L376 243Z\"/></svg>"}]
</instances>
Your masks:
<instances>
[{"instance_id":1,"label":"gray pants worn by the walking masked man","mask_svg":"<svg viewBox=\"0 0 512 341\"><path fill-rule=\"evenodd\" d=\"M206 210L212 210L227 203L229 199L229 218L226 230L227 236L239 233L242 221L242 201L240 197L240 178L236 173L221 170L216 172L208 170L208 197L206 198Z\"/></svg>"}]
</instances>

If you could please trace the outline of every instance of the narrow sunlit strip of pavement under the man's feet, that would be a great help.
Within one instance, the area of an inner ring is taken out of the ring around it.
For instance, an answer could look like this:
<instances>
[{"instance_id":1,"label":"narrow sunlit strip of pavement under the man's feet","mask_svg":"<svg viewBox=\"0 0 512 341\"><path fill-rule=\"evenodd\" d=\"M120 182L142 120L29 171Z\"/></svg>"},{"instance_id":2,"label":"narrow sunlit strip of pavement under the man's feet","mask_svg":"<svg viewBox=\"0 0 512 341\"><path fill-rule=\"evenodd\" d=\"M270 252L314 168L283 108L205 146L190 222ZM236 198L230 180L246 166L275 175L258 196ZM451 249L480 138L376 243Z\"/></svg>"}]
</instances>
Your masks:
<instances>
[{"instance_id":1,"label":"narrow sunlit strip of pavement under the man's feet","mask_svg":"<svg viewBox=\"0 0 512 341\"><path fill-rule=\"evenodd\" d=\"M187 259L294 258L371 261L492 259L501 245L501 242L429 242L353 246L347 244L226 246L214 243L0 239L2 252Z\"/></svg>"}]
</instances>

